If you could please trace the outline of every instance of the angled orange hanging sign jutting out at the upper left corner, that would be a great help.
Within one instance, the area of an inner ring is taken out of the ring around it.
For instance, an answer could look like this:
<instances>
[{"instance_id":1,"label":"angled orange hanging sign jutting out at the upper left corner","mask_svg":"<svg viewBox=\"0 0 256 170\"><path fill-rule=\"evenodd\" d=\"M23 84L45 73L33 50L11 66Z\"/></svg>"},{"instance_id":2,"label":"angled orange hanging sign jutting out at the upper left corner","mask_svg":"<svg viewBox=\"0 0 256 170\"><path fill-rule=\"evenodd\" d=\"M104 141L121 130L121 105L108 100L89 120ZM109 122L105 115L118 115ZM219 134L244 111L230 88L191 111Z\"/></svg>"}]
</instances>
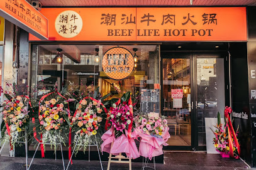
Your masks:
<instances>
[{"instance_id":1,"label":"angled orange hanging sign jutting out at the upper left corner","mask_svg":"<svg viewBox=\"0 0 256 170\"><path fill-rule=\"evenodd\" d=\"M48 19L26 0L1 0L0 16L41 40L48 39Z\"/></svg>"}]
</instances>

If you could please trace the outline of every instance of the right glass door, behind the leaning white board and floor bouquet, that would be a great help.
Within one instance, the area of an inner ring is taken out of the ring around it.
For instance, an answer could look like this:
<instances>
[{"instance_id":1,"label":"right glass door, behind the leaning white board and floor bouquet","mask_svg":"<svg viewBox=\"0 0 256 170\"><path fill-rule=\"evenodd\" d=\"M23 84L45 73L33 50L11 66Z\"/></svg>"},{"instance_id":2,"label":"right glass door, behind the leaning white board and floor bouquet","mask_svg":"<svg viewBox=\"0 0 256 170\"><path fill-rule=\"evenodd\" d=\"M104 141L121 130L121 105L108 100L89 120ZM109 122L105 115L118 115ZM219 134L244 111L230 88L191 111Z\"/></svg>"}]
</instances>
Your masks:
<instances>
[{"instance_id":1,"label":"right glass door, behind the leaning white board and floor bouquet","mask_svg":"<svg viewBox=\"0 0 256 170\"><path fill-rule=\"evenodd\" d=\"M205 119L221 117L225 110L225 60L220 56L196 55L196 127L198 147L206 147ZM210 141L208 141L210 142Z\"/></svg>"}]
</instances>

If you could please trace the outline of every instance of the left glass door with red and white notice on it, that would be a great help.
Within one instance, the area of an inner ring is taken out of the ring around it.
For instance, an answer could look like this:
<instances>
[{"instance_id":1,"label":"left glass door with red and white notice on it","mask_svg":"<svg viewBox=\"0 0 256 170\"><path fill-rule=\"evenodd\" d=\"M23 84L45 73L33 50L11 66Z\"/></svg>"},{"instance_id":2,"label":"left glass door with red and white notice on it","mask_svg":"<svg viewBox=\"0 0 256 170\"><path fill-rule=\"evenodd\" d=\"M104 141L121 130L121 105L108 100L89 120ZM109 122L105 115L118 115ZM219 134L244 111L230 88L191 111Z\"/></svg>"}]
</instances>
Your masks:
<instances>
[{"instance_id":1,"label":"left glass door with red and white notice on it","mask_svg":"<svg viewBox=\"0 0 256 170\"><path fill-rule=\"evenodd\" d=\"M162 115L167 117L169 146L191 147L191 58L162 59Z\"/></svg>"}]
</instances>

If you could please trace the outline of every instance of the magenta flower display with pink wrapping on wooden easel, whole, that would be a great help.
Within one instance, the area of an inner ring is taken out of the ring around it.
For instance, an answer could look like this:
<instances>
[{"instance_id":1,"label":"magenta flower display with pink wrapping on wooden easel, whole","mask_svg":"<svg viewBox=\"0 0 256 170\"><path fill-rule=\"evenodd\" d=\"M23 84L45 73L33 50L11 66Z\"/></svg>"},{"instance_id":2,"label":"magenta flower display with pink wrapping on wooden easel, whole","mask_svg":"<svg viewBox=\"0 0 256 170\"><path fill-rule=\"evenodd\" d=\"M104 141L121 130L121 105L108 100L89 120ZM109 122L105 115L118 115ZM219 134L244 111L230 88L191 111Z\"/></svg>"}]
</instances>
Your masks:
<instances>
[{"instance_id":1,"label":"magenta flower display with pink wrapping on wooden easel, whole","mask_svg":"<svg viewBox=\"0 0 256 170\"><path fill-rule=\"evenodd\" d=\"M111 128L101 137L104 141L101 144L101 150L109 153L108 170L111 163L129 164L129 170L131 170L131 159L140 157L135 144L136 132L131 132L133 129L133 107L130 93L125 93L124 96L128 102L124 100L121 103L121 99L119 99L113 104L107 118L112 124ZM116 136L118 136L117 139ZM125 153L126 157L121 153Z\"/></svg>"}]
</instances>

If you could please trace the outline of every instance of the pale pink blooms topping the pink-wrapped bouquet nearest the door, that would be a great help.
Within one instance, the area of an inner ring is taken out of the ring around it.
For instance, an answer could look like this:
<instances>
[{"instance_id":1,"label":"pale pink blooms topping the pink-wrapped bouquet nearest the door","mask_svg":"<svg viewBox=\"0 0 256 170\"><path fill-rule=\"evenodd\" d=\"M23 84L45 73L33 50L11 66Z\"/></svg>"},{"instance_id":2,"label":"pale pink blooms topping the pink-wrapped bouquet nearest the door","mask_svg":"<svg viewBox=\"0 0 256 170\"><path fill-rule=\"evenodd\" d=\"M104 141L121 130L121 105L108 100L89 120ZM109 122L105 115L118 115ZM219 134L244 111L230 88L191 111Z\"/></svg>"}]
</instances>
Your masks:
<instances>
[{"instance_id":1,"label":"pale pink blooms topping the pink-wrapped bouquet nearest the door","mask_svg":"<svg viewBox=\"0 0 256 170\"><path fill-rule=\"evenodd\" d=\"M138 115L136 116L136 127L145 133L160 137L167 127L167 120L159 115ZM160 135L160 136L159 136Z\"/></svg>"}]
</instances>

